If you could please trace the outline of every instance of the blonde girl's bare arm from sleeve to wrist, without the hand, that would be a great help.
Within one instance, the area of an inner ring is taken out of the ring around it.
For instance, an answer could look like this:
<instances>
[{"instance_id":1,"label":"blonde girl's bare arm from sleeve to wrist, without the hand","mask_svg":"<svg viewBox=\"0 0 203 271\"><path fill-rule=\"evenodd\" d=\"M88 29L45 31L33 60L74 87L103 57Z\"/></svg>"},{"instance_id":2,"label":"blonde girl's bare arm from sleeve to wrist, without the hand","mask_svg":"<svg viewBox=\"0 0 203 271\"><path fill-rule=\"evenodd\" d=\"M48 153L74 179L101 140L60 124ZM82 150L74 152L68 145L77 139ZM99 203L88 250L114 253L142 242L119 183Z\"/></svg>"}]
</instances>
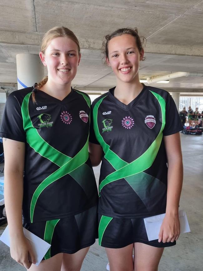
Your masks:
<instances>
[{"instance_id":1,"label":"blonde girl's bare arm from sleeve to wrist, without the hand","mask_svg":"<svg viewBox=\"0 0 203 271\"><path fill-rule=\"evenodd\" d=\"M25 144L3 138L5 158L4 195L9 232L22 235L22 197Z\"/></svg>"}]
</instances>

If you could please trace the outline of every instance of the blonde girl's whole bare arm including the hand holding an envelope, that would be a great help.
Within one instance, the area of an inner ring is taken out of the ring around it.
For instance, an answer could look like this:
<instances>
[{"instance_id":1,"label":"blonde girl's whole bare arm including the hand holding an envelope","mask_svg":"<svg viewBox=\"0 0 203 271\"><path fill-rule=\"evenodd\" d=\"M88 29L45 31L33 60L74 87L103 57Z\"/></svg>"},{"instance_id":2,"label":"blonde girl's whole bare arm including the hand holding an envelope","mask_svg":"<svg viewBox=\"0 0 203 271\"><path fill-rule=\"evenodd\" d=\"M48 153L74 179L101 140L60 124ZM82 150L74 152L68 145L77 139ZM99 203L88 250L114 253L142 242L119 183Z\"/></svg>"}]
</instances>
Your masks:
<instances>
[{"instance_id":1,"label":"blonde girl's whole bare arm including the hand holding an envelope","mask_svg":"<svg viewBox=\"0 0 203 271\"><path fill-rule=\"evenodd\" d=\"M22 198L25 143L3 138L5 168L4 197L11 239L11 256L30 268L35 262L32 248L22 230ZM28 262L28 254L31 261Z\"/></svg>"}]
</instances>

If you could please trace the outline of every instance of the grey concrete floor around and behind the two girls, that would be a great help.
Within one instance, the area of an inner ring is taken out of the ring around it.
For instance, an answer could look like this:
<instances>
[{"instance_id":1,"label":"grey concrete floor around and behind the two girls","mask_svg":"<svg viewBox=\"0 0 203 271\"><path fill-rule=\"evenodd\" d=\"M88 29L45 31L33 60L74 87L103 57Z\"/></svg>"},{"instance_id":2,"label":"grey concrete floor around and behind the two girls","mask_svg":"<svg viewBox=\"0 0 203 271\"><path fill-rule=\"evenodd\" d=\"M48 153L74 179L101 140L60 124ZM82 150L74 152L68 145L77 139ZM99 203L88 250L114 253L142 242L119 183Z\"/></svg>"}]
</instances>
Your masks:
<instances>
[{"instance_id":1,"label":"grey concrete floor around and behind the two girls","mask_svg":"<svg viewBox=\"0 0 203 271\"><path fill-rule=\"evenodd\" d=\"M159 271L203 270L203 135L192 136L181 133L184 161L184 183L180 208L184 209L191 232L183 233L177 245L166 248ZM94 169L98 181L99 167ZM5 226L0 227L0 234ZM105 271L108 262L104 248L96 242L89 250L81 271ZM10 257L9 248L0 242L0 271L25 270Z\"/></svg>"}]
</instances>

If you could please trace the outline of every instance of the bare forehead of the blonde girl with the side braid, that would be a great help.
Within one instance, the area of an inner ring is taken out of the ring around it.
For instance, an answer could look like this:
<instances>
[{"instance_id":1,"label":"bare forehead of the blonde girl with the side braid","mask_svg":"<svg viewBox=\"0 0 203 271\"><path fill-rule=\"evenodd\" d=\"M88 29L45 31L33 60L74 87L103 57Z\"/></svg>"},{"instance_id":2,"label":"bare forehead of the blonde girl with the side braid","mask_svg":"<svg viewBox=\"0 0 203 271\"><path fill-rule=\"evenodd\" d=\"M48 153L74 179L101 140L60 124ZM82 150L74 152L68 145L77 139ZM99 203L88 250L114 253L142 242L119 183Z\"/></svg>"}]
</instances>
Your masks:
<instances>
[{"instance_id":1,"label":"bare forehead of the blonde girl with the side braid","mask_svg":"<svg viewBox=\"0 0 203 271\"><path fill-rule=\"evenodd\" d=\"M68 37L53 38L48 44L47 50L77 50L77 43Z\"/></svg>"}]
</instances>

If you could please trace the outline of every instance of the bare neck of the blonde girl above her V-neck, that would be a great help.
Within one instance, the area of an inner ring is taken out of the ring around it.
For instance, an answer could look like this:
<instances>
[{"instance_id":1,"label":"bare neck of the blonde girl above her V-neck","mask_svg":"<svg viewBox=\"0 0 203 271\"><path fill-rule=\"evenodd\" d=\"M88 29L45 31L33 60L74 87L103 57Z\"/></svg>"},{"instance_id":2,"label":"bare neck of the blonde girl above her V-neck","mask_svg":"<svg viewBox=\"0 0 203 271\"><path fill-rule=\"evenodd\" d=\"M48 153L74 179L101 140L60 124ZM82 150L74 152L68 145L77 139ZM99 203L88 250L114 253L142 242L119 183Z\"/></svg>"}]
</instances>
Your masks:
<instances>
[{"instance_id":1,"label":"bare neck of the blonde girl above her V-neck","mask_svg":"<svg viewBox=\"0 0 203 271\"><path fill-rule=\"evenodd\" d=\"M71 92L71 82L66 85L58 85L48 80L40 90L62 101Z\"/></svg>"}]
</instances>

